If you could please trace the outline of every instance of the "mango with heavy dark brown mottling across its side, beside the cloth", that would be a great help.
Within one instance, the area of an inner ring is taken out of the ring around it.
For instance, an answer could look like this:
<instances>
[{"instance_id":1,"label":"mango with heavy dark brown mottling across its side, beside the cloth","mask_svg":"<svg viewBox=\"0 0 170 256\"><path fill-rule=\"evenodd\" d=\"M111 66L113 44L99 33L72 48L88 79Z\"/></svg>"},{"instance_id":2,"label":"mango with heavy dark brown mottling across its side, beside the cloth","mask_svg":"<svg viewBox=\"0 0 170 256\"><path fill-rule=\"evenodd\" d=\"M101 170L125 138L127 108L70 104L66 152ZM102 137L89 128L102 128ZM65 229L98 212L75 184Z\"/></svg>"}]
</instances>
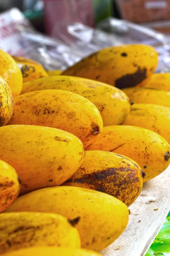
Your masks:
<instances>
[{"instance_id":1,"label":"mango with heavy dark brown mottling across its side, beside the cloth","mask_svg":"<svg viewBox=\"0 0 170 256\"><path fill-rule=\"evenodd\" d=\"M142 190L142 169L123 155L99 150L86 151L77 172L63 185L104 192L130 206Z\"/></svg>"}]
</instances>

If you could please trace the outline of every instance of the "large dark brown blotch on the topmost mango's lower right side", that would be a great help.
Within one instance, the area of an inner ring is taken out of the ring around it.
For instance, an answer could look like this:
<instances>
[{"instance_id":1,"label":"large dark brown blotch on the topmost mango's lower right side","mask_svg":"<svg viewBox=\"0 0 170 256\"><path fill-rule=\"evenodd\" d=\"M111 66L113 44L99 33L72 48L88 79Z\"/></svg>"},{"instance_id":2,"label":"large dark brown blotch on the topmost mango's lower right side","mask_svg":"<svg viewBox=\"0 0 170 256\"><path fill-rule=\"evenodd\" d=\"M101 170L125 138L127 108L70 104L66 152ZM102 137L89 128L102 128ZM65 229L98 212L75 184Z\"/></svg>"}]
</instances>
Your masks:
<instances>
[{"instance_id":1,"label":"large dark brown blotch on the topmost mango's lower right side","mask_svg":"<svg viewBox=\"0 0 170 256\"><path fill-rule=\"evenodd\" d=\"M137 84L140 84L144 79L146 79L146 73L146 68L141 69L140 67L138 67L135 73L126 74L125 76L117 79L115 81L115 86L119 89L136 86Z\"/></svg>"}]
</instances>

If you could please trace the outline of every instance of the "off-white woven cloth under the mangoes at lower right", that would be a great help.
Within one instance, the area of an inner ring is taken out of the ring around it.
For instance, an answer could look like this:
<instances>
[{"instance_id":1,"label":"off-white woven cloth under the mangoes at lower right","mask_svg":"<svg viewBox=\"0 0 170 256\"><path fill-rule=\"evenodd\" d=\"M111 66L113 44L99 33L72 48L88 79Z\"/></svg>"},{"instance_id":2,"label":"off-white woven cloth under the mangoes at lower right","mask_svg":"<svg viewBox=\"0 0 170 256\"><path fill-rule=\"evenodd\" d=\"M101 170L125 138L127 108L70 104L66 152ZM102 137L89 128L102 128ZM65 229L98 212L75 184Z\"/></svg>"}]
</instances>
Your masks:
<instances>
[{"instance_id":1,"label":"off-white woven cloth under the mangoes at lower right","mask_svg":"<svg viewBox=\"0 0 170 256\"><path fill-rule=\"evenodd\" d=\"M170 166L161 175L144 183L141 194L129 209L125 232L102 250L104 256L145 255L170 211Z\"/></svg>"}]
</instances>

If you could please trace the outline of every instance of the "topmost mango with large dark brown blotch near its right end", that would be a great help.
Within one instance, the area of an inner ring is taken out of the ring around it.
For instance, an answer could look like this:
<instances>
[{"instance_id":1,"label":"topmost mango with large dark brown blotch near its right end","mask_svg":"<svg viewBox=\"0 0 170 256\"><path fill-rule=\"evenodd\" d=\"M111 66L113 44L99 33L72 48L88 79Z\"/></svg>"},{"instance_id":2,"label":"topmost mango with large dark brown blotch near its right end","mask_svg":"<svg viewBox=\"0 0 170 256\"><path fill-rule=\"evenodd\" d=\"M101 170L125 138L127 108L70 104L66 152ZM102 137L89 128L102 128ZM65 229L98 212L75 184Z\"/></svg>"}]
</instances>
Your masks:
<instances>
[{"instance_id":1,"label":"topmost mango with large dark brown blotch near its right end","mask_svg":"<svg viewBox=\"0 0 170 256\"><path fill-rule=\"evenodd\" d=\"M79 76L118 87L136 86L154 73L158 53L142 44L102 49L69 67L61 75Z\"/></svg>"}]
</instances>

